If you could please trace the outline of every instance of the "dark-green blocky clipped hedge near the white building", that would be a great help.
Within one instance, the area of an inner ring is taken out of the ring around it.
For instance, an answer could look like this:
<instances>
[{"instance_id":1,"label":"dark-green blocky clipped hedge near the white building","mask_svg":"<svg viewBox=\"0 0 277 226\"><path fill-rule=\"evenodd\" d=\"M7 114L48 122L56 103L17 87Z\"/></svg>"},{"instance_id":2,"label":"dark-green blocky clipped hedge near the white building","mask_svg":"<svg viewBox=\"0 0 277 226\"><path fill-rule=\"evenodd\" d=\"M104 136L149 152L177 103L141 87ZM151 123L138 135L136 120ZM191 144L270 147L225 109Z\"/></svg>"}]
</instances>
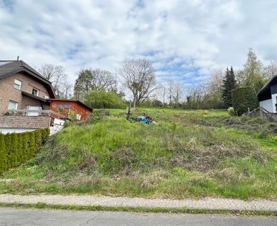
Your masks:
<instances>
[{"instance_id":1,"label":"dark-green blocky clipped hedge near the white building","mask_svg":"<svg viewBox=\"0 0 277 226\"><path fill-rule=\"evenodd\" d=\"M257 108L258 99L252 87L241 87L232 90L232 103L234 112L237 115L242 115L248 111L248 108L254 110Z\"/></svg>"}]
</instances>

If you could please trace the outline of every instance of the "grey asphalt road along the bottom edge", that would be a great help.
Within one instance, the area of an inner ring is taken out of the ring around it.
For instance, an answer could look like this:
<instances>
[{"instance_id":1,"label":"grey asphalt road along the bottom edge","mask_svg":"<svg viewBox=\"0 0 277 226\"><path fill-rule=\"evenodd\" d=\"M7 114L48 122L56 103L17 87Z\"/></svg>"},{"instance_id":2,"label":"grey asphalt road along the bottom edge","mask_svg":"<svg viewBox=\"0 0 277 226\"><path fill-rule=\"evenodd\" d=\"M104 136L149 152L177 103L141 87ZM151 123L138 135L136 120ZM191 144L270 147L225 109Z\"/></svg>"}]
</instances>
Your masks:
<instances>
[{"instance_id":1,"label":"grey asphalt road along the bottom edge","mask_svg":"<svg viewBox=\"0 0 277 226\"><path fill-rule=\"evenodd\" d=\"M277 217L0 208L0 225L277 225Z\"/></svg>"}]
</instances>

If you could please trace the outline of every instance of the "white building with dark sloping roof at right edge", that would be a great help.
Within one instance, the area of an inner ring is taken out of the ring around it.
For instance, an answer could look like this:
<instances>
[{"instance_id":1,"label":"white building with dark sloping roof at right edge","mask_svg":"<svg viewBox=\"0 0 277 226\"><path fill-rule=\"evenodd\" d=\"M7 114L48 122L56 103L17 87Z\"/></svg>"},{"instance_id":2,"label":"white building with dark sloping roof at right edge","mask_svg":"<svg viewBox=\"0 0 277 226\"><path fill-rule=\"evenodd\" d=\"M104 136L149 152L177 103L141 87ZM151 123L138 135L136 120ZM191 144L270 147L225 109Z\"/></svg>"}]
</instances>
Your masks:
<instances>
[{"instance_id":1,"label":"white building with dark sloping roof at right edge","mask_svg":"<svg viewBox=\"0 0 277 226\"><path fill-rule=\"evenodd\" d=\"M260 107L277 113L277 75L273 76L257 94Z\"/></svg>"}]
</instances>

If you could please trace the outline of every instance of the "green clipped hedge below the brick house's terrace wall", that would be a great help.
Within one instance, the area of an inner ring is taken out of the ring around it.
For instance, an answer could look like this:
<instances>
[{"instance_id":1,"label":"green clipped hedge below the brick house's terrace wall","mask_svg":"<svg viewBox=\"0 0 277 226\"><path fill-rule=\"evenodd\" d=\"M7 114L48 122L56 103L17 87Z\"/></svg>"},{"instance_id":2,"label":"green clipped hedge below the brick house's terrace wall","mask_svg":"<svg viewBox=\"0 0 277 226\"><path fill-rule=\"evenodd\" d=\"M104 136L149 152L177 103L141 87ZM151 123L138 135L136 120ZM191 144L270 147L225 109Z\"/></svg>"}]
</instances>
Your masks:
<instances>
[{"instance_id":1,"label":"green clipped hedge below the brick house's terrace wall","mask_svg":"<svg viewBox=\"0 0 277 226\"><path fill-rule=\"evenodd\" d=\"M0 133L0 174L33 158L48 136L48 128L6 135Z\"/></svg>"}]
</instances>

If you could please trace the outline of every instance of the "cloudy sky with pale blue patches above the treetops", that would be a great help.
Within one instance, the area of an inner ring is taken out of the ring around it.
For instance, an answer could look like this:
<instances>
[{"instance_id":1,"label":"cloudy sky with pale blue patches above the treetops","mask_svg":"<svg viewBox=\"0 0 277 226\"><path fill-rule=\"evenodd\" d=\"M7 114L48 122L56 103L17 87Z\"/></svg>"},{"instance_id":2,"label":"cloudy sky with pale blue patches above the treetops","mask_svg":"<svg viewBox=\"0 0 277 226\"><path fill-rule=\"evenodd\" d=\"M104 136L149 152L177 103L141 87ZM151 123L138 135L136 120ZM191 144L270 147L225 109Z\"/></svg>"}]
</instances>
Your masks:
<instances>
[{"instance_id":1,"label":"cloudy sky with pale blue patches above the treetops","mask_svg":"<svg viewBox=\"0 0 277 226\"><path fill-rule=\"evenodd\" d=\"M146 57L159 82L194 86L212 69L243 67L249 47L277 59L276 0L0 0L0 60L117 73Z\"/></svg>"}]
</instances>

